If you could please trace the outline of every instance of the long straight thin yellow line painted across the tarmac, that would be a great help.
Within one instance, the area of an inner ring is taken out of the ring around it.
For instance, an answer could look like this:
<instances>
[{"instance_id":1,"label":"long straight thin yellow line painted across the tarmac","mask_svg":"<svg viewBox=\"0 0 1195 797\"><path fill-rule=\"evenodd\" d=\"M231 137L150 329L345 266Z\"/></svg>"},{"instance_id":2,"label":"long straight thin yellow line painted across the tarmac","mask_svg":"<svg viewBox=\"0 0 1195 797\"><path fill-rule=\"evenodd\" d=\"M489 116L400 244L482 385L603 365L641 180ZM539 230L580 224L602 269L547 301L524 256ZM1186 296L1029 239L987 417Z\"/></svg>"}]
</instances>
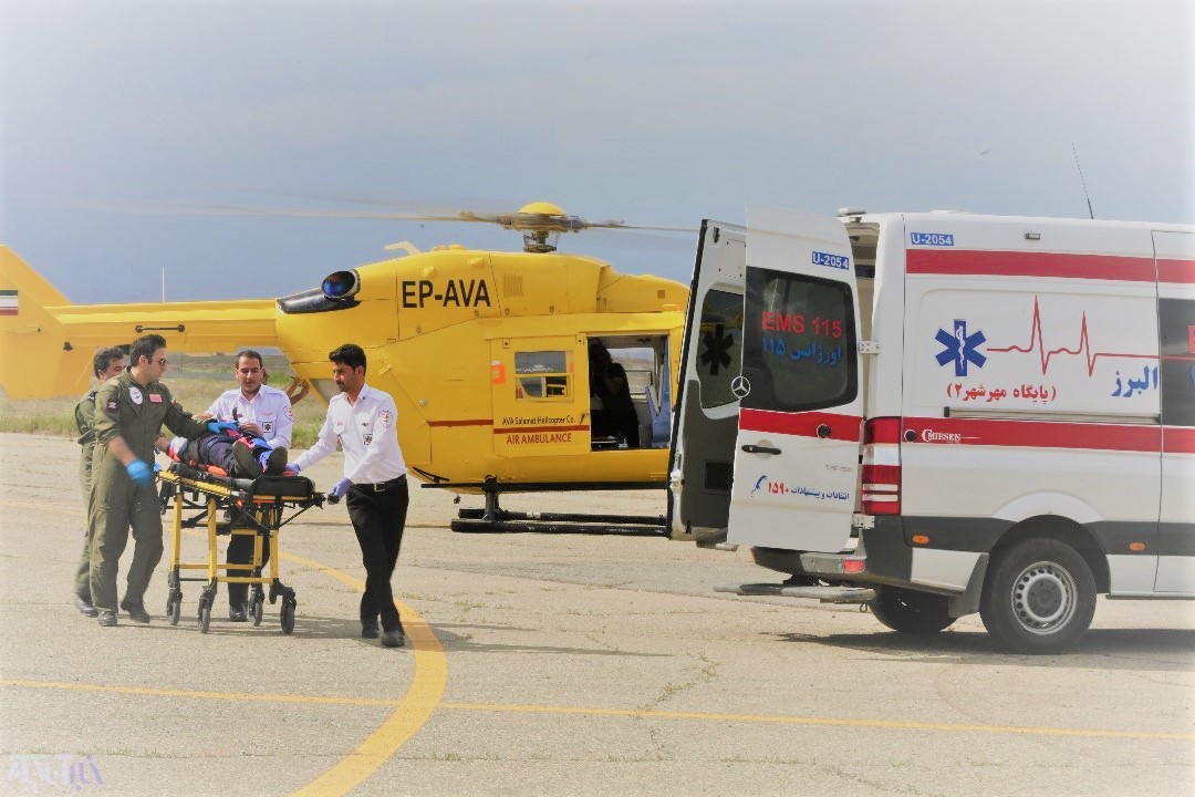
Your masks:
<instances>
[{"instance_id":1,"label":"long straight thin yellow line painted across the tarmac","mask_svg":"<svg viewBox=\"0 0 1195 797\"><path fill-rule=\"evenodd\" d=\"M188 689L155 689L135 686L108 686L103 683L59 683L18 679L0 680L0 686L19 686L37 689L73 689L80 692L115 692L163 698L189 698L195 700L244 700L258 703L308 703L343 706L381 706L402 709L405 700L379 698L317 697L307 694L249 694L241 692L192 692ZM731 715L703 711L646 711L638 709L602 709L598 706L531 706L495 703L441 703L435 706L443 711L479 711L492 713L525 715L584 715L592 717L620 717L627 719L681 719L698 722L723 722L743 724L813 725L822 728L871 728L881 730L945 731L957 734L999 734L1029 736L1071 736L1086 738L1139 738L1189 742L1195 734L1168 734L1158 731L1107 730L1101 728L1046 728L1017 725L981 725L962 723L905 722L889 719L851 719L835 717L785 717L777 715ZM318 781L317 781L318 783ZM313 787L314 784L307 786ZM327 793L327 792L319 792Z\"/></svg>"}]
</instances>

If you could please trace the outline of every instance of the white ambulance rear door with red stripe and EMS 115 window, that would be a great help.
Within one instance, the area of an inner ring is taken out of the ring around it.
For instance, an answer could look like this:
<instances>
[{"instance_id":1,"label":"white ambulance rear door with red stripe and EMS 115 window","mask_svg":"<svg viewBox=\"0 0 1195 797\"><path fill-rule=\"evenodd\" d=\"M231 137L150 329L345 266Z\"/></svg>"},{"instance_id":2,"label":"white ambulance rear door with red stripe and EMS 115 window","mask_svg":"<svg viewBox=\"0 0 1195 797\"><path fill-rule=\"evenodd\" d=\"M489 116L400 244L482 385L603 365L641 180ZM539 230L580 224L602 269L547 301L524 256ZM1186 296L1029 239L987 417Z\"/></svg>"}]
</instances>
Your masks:
<instances>
[{"instance_id":1,"label":"white ambulance rear door with red stripe and EMS 115 window","mask_svg":"<svg viewBox=\"0 0 1195 797\"><path fill-rule=\"evenodd\" d=\"M729 542L847 547L863 425L858 315L851 244L839 220L747 208Z\"/></svg>"}]
</instances>

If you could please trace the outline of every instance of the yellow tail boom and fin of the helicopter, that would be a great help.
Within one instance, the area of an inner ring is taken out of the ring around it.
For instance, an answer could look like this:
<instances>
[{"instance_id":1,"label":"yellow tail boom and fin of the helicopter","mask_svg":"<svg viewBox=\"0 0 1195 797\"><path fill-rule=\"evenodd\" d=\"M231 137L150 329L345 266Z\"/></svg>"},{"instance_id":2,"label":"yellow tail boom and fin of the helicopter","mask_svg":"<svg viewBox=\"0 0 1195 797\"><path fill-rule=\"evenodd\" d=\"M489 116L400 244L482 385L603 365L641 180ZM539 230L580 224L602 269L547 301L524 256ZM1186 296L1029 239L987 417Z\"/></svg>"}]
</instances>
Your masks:
<instances>
[{"instance_id":1,"label":"yellow tail boom and fin of the helicopter","mask_svg":"<svg viewBox=\"0 0 1195 797\"><path fill-rule=\"evenodd\" d=\"M80 396L102 347L158 332L173 351L277 345L272 299L72 305L0 245L0 386L10 398Z\"/></svg>"}]
</instances>

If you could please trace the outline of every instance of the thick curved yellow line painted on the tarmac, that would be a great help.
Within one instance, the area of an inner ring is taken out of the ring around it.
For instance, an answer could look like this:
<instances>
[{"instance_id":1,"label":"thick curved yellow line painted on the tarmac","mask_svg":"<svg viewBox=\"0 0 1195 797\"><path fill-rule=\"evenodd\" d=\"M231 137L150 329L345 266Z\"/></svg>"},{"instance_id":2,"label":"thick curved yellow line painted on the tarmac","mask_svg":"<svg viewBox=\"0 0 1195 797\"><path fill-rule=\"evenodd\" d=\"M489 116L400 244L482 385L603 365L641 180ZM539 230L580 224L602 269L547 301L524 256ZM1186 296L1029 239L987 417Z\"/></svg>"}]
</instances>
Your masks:
<instances>
[{"instance_id":1,"label":"thick curved yellow line painted on the tarmac","mask_svg":"<svg viewBox=\"0 0 1195 797\"><path fill-rule=\"evenodd\" d=\"M320 570L357 591L364 591L364 582L339 570L290 553L281 556L288 562ZM399 600L396 600L394 605L403 615L407 644L415 649L415 678L411 679L411 686L394 712L378 730L331 770L294 792L296 797L344 795L355 789L415 736L431 713L440 707L440 700L448 685L448 657L445 655L443 645L415 609Z\"/></svg>"}]
</instances>

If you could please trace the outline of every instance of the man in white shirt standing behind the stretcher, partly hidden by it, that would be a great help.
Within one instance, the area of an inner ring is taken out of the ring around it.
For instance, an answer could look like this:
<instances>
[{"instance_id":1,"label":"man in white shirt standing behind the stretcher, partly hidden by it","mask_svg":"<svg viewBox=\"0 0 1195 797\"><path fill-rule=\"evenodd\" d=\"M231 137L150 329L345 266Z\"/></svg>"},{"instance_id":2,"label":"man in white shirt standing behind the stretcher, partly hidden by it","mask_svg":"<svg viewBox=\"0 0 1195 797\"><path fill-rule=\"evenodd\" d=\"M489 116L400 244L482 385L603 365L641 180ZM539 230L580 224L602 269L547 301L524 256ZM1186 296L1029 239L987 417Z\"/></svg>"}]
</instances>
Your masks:
<instances>
[{"instance_id":1,"label":"man in white shirt standing behind the stretcher, partly hidden by it","mask_svg":"<svg viewBox=\"0 0 1195 797\"><path fill-rule=\"evenodd\" d=\"M212 403L206 415L219 421L234 422L243 433L261 437L270 448L290 447L290 430L294 427L294 413L290 410L290 398L276 387L262 381L265 369L262 355L252 349L237 354L233 367L240 387L225 391ZM202 417L202 416L201 416ZM264 462L262 464L264 467ZM228 540L225 554L228 564L249 564L253 560L253 538L249 534L233 534ZM270 546L262 546L262 565L270 560ZM228 571L228 575L256 575L247 571ZM249 619L249 584L228 584L228 619L244 623Z\"/></svg>"}]
</instances>

